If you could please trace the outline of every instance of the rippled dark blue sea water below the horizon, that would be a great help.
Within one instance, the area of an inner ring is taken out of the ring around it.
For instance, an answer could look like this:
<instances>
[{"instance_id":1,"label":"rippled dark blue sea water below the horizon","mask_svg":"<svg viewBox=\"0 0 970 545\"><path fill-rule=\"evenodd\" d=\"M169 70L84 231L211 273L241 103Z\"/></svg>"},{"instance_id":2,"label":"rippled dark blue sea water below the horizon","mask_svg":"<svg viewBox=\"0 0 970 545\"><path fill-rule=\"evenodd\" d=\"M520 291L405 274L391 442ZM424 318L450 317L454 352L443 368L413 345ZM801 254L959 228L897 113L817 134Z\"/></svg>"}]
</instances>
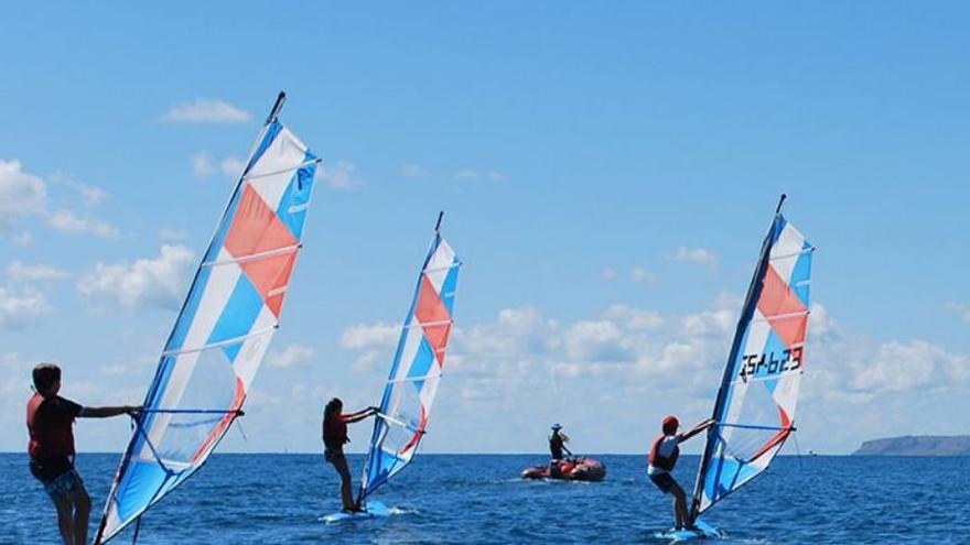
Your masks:
<instances>
[{"instance_id":1,"label":"rippled dark blue sea water below the horizon","mask_svg":"<svg viewBox=\"0 0 970 545\"><path fill-rule=\"evenodd\" d=\"M362 457L351 456L355 475ZM528 455L422 455L377 499L387 519L324 524L340 508L322 456L215 455L144 516L138 543L665 543L670 498L642 456L597 456L599 483L525 481ZM80 455L98 522L117 455ZM677 478L693 482L697 457ZM723 544L970 543L970 458L784 457L704 519ZM58 543L54 508L25 455L0 455L0 544ZM356 484L356 483L355 483ZM131 543L126 532L114 543Z\"/></svg>"}]
</instances>

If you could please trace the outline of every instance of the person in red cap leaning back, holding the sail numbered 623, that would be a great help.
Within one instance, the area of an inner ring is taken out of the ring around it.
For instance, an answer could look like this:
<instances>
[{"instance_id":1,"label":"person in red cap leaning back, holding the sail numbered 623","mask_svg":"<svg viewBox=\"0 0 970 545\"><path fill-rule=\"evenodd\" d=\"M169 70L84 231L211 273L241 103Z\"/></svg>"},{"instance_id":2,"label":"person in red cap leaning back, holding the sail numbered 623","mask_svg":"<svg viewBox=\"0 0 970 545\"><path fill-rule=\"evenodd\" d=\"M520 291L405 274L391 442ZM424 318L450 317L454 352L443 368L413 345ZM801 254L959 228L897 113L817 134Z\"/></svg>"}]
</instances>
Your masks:
<instances>
[{"instance_id":1,"label":"person in red cap leaning back, holding the sail numbered 623","mask_svg":"<svg viewBox=\"0 0 970 545\"><path fill-rule=\"evenodd\" d=\"M687 494L683 493L683 489L671 475L673 466L677 465L677 457L680 456L679 445L712 425L714 425L714 419L709 418L698 423L689 430L678 434L677 428L680 423L677 417L667 416L664 418L660 435L654 439L654 446L650 447L650 454L647 458L647 475L661 492L673 495L675 530L683 530L685 527L696 530L693 521L688 520Z\"/></svg>"}]
</instances>

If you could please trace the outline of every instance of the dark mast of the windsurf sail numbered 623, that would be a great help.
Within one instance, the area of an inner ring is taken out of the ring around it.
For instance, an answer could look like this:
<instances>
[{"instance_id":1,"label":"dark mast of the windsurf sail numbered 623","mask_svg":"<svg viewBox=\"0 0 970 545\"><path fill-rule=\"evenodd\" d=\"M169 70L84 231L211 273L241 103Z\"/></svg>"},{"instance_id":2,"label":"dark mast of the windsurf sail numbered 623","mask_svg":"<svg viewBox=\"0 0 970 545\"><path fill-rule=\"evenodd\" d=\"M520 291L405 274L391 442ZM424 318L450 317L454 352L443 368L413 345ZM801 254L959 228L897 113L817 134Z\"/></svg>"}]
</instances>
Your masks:
<instances>
[{"instance_id":1,"label":"dark mast of the windsurf sail numbered 623","mask_svg":"<svg viewBox=\"0 0 970 545\"><path fill-rule=\"evenodd\" d=\"M782 216L782 205L785 204L785 198L787 195L784 193L782 197L778 199L778 206L775 208L775 216L772 219L772 226L768 229L768 233L765 236L764 242L762 242L762 250L758 254L757 265L755 266L754 276L751 279L751 285L747 287L747 295L744 297L744 305L741 307L741 317L737 319L737 327L734 330L734 340L731 344L731 352L728 355L728 364L724 366L724 374L721 378L721 386L718 389L718 397L714 402L714 411L711 414L711 418L714 419L714 425L708 428L708 438L707 444L704 445L704 454L701 457L700 469L698 470L697 483L694 484L693 490L693 500L690 505L690 514L688 520L693 522L697 519L698 511L700 510L701 497L703 494L704 489L704 477L707 477L708 465L711 460L711 456L714 453L714 445L716 445L715 436L718 432L718 422L721 419L722 413L724 411L724 397L728 394L728 389L731 383L731 378L733 375L732 363L737 359L737 351L741 350L741 341L744 337L744 329L747 324L751 321L752 316L754 316L754 309L757 305L758 294L761 292L762 282L765 279L765 271L767 270L768 255L772 252L772 242L775 237L775 229L778 225L778 218Z\"/></svg>"}]
</instances>

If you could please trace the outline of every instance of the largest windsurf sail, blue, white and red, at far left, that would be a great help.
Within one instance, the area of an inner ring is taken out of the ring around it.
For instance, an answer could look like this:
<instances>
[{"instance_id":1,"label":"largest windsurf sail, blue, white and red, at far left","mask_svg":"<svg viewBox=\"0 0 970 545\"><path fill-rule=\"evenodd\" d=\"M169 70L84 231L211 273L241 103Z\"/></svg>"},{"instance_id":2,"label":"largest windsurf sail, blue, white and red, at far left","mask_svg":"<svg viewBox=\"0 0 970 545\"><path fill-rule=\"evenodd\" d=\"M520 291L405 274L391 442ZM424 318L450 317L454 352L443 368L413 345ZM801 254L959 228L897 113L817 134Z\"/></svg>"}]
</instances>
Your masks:
<instances>
[{"instance_id":1,"label":"largest windsurf sail, blue, white and red, at far left","mask_svg":"<svg viewBox=\"0 0 970 545\"><path fill-rule=\"evenodd\" d=\"M165 342L95 543L197 471L233 422L273 333L302 247L313 155L279 119L280 92Z\"/></svg>"}]
</instances>

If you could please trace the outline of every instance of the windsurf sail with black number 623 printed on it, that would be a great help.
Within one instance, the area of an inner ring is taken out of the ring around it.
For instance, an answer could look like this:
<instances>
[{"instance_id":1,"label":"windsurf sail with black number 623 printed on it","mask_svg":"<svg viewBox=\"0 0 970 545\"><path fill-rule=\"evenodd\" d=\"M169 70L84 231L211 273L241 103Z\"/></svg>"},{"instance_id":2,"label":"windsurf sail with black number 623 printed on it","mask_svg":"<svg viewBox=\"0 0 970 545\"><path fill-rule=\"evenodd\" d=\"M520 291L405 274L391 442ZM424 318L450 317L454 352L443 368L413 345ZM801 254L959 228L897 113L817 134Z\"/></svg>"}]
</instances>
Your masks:
<instances>
[{"instance_id":1,"label":"windsurf sail with black number 623 printed on it","mask_svg":"<svg viewBox=\"0 0 970 545\"><path fill-rule=\"evenodd\" d=\"M782 216L762 244L714 403L691 519L761 475L795 432L815 248Z\"/></svg>"}]
</instances>

